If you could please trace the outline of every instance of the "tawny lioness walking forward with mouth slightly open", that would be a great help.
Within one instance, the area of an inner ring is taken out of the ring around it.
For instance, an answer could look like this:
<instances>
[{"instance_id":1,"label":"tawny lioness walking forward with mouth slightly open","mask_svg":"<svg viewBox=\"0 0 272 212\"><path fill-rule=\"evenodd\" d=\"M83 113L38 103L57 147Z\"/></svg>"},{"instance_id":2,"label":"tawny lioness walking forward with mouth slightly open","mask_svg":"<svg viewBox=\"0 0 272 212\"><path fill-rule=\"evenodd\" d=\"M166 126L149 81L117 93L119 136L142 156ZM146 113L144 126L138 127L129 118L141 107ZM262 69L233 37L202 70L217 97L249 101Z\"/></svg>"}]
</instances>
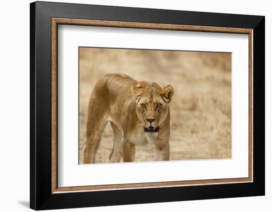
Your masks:
<instances>
[{"instance_id":1,"label":"tawny lioness walking forward with mouth slightly open","mask_svg":"<svg viewBox=\"0 0 272 212\"><path fill-rule=\"evenodd\" d=\"M135 145L152 144L154 160L169 160L170 109L174 89L137 82L125 74L101 77L90 97L83 163L94 163L109 121L114 133L110 162L135 159Z\"/></svg>"}]
</instances>

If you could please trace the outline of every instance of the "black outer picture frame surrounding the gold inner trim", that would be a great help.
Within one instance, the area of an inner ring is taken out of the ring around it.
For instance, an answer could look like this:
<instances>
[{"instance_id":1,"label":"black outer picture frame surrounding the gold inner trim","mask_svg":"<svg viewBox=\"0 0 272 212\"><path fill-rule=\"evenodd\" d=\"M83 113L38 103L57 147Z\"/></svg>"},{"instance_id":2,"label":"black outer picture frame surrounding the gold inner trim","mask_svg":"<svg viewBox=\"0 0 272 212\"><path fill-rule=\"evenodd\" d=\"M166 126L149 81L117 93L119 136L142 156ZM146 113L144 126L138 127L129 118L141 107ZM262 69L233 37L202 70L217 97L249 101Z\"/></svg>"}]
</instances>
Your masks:
<instances>
[{"instance_id":1,"label":"black outer picture frame surrounding the gold inner trim","mask_svg":"<svg viewBox=\"0 0 272 212\"><path fill-rule=\"evenodd\" d=\"M51 18L253 29L253 182L51 193ZM30 208L67 209L265 195L265 17L119 6L30 4Z\"/></svg>"}]
</instances>

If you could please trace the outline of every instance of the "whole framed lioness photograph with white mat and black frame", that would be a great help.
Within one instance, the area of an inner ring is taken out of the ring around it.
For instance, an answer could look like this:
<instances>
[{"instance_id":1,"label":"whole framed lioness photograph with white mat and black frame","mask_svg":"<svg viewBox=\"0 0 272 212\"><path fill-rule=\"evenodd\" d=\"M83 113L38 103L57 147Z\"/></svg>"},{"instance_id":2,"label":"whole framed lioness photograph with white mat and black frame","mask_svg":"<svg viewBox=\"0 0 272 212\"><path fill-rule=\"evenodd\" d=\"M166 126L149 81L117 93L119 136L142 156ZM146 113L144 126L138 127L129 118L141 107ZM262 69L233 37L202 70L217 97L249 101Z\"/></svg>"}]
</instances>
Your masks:
<instances>
[{"instance_id":1,"label":"whole framed lioness photograph with white mat and black frame","mask_svg":"<svg viewBox=\"0 0 272 212\"><path fill-rule=\"evenodd\" d=\"M265 195L265 17L30 4L30 207Z\"/></svg>"}]
</instances>

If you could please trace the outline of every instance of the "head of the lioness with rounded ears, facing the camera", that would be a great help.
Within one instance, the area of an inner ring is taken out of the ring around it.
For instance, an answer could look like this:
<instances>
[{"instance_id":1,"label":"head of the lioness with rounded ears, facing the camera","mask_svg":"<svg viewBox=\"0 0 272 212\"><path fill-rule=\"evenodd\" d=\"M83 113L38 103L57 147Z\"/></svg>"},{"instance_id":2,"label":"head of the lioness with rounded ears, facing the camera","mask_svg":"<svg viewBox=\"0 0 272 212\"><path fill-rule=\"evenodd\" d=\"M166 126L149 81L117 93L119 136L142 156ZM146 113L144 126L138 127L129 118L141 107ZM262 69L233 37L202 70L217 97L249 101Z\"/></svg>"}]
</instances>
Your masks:
<instances>
[{"instance_id":1,"label":"head of the lioness with rounded ears, facing the camera","mask_svg":"<svg viewBox=\"0 0 272 212\"><path fill-rule=\"evenodd\" d=\"M144 131L158 132L168 114L174 88L167 85L162 89L157 83L141 81L132 87L132 93L136 96L136 113Z\"/></svg>"}]
</instances>

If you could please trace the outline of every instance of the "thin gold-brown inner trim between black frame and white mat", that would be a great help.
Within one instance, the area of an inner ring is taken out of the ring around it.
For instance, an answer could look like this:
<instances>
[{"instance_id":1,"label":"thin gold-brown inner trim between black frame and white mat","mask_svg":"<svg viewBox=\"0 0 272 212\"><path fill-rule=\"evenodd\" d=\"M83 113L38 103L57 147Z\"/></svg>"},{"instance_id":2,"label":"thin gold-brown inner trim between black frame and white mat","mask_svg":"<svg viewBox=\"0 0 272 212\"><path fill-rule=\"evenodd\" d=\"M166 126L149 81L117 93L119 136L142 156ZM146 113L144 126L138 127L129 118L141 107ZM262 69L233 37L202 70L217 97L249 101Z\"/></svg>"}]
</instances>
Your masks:
<instances>
[{"instance_id":1,"label":"thin gold-brown inner trim between black frame and white mat","mask_svg":"<svg viewBox=\"0 0 272 212\"><path fill-rule=\"evenodd\" d=\"M139 29L160 29L160 30L180 30L196 32L219 32L248 34L249 47L249 159L248 159L248 177L226 178L226 179L208 179L208 180L186 180L169 182L149 182L149 183L129 183L129 184L111 184L111 185L93 185L93 186L73 186L58 187L57 182L57 33L58 24L64 25L84 25L100 27L119 27L119 28L139 28ZM245 183L253 182L253 29L246 28L228 28L228 27L207 27L190 26L179 24L158 24L158 23L140 23L124 21L105 21L105 20L85 20L70 18L51 18L51 193L63 192L82 192L98 190L119 190L119 189L139 189L154 187L178 187L194 186L208 184L226 184L226 183Z\"/></svg>"}]
</instances>

